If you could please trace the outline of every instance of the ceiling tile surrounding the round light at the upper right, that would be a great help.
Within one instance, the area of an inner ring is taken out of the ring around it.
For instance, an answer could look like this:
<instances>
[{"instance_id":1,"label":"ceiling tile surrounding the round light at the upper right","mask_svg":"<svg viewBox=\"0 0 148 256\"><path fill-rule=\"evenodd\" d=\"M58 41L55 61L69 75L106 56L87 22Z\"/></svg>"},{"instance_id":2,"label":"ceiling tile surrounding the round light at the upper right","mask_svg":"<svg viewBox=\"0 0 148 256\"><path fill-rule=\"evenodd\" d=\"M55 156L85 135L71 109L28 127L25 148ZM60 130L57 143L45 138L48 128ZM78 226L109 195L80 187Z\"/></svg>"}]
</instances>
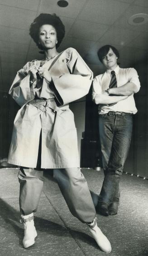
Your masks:
<instances>
[{"instance_id":1,"label":"ceiling tile surrounding the round light at the upper right","mask_svg":"<svg viewBox=\"0 0 148 256\"><path fill-rule=\"evenodd\" d=\"M137 5L130 5L129 8L124 13L124 15L120 17L118 20L116 20L116 22L114 23L114 26L128 28L130 30L145 31L146 29L148 29L148 23L143 25L137 25L137 26L129 25L128 23L129 17L138 13L148 14L148 8L137 6Z\"/></svg>"}]
</instances>

